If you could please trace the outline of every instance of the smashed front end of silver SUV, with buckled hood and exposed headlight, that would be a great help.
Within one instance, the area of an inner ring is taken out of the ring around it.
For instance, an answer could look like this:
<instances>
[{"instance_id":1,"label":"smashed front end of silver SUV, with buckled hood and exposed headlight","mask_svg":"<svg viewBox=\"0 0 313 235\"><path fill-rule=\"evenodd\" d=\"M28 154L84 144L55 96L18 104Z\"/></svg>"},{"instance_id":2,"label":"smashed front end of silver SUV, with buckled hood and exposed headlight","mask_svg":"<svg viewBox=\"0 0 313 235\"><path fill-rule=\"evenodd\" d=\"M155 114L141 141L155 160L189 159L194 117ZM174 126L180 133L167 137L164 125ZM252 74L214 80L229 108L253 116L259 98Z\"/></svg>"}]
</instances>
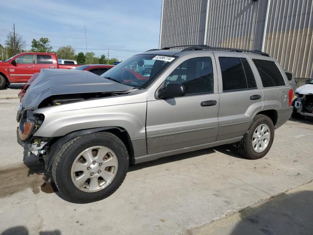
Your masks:
<instances>
[{"instance_id":1,"label":"smashed front end of silver SUV, with buckled hood and exposed headlight","mask_svg":"<svg viewBox=\"0 0 313 235\"><path fill-rule=\"evenodd\" d=\"M45 162L49 172L53 144L62 137L41 137L36 132L45 121L38 110L69 103L128 94L134 87L100 77L89 71L43 69L27 89L17 113L17 141L24 148L24 156L34 156ZM61 143L62 144L62 143ZM58 146L59 147L59 146Z\"/></svg>"}]
</instances>

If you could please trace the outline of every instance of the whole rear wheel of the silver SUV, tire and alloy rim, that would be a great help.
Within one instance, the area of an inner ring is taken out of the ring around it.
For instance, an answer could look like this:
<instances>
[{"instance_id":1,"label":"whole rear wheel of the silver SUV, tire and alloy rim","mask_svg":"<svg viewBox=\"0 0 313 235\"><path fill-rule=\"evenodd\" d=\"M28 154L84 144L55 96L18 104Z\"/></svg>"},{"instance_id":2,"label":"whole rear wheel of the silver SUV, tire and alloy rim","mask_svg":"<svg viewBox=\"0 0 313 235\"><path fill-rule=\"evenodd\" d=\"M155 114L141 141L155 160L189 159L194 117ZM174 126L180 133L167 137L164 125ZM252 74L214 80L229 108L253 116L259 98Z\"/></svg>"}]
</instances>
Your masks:
<instances>
[{"instance_id":1,"label":"whole rear wheel of the silver SUV, tire and alloy rim","mask_svg":"<svg viewBox=\"0 0 313 235\"><path fill-rule=\"evenodd\" d=\"M244 138L238 143L239 153L249 159L263 158L274 140L274 125L266 115L253 118Z\"/></svg>"}]
</instances>

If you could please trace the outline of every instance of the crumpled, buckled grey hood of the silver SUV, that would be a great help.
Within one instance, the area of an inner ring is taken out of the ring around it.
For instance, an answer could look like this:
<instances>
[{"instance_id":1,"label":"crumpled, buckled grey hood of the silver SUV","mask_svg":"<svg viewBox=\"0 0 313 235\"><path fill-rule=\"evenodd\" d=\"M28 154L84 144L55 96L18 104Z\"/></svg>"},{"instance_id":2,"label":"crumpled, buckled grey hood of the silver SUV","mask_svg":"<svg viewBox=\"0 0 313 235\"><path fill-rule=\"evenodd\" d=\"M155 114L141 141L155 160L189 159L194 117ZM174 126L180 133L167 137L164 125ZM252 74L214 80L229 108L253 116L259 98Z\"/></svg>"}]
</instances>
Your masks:
<instances>
[{"instance_id":1,"label":"crumpled, buckled grey hood of the silver SUV","mask_svg":"<svg viewBox=\"0 0 313 235\"><path fill-rule=\"evenodd\" d=\"M43 69L26 91L22 107L37 109L45 98L56 94L123 92L132 88L89 71Z\"/></svg>"}]
</instances>

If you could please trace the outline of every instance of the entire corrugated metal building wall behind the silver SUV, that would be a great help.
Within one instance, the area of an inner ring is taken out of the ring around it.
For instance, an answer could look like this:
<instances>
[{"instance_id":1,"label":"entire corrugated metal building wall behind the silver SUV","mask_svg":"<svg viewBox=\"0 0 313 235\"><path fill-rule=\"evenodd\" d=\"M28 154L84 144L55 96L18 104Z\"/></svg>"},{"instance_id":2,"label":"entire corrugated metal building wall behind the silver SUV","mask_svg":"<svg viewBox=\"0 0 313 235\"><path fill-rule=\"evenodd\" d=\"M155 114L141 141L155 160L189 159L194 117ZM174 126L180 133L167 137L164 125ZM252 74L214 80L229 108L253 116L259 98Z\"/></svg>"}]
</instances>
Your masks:
<instances>
[{"instance_id":1,"label":"entire corrugated metal building wall behind the silver SUV","mask_svg":"<svg viewBox=\"0 0 313 235\"><path fill-rule=\"evenodd\" d=\"M313 77L313 0L163 0L159 46L203 43L264 50Z\"/></svg>"}]
</instances>

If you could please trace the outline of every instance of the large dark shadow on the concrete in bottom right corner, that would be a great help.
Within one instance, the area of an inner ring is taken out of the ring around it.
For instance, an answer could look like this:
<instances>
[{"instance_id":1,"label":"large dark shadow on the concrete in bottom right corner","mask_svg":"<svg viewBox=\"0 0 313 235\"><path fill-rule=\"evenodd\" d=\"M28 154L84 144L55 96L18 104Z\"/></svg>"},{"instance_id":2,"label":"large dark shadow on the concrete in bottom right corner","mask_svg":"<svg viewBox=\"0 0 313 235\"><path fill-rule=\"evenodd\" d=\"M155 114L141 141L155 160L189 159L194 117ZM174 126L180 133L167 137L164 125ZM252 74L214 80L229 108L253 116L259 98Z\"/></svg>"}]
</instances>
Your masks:
<instances>
[{"instance_id":1,"label":"large dark shadow on the concrete in bottom right corner","mask_svg":"<svg viewBox=\"0 0 313 235\"><path fill-rule=\"evenodd\" d=\"M241 211L240 218L231 235L312 235L313 191L284 193L258 207Z\"/></svg>"}]
</instances>

